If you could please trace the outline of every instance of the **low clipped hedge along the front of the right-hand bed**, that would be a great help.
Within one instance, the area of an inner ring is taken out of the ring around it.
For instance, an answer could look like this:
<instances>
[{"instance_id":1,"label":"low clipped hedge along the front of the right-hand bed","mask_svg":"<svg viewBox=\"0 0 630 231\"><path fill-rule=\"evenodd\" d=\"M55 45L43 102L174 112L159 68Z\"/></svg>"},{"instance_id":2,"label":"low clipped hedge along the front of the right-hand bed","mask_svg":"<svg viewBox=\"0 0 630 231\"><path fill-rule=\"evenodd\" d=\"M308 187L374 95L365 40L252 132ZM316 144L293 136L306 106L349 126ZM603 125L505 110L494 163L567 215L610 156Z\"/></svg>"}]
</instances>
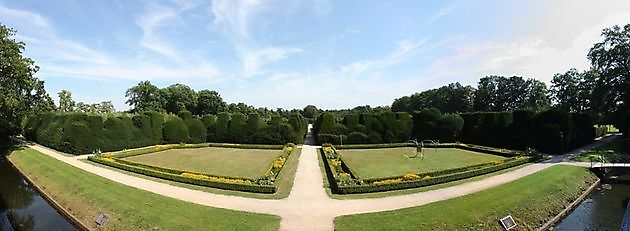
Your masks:
<instances>
[{"instance_id":1,"label":"low clipped hedge along the front of the right-hand bed","mask_svg":"<svg viewBox=\"0 0 630 231\"><path fill-rule=\"evenodd\" d=\"M432 177L428 179L421 179L416 181L403 181L397 184L383 184L383 185L353 185L353 186L341 186L337 187L335 193L339 194L352 194L352 193L371 193L371 192L384 192L391 190L417 188L422 186L429 186L434 184L441 184L455 180L466 179L470 177L480 176L491 172L496 172L502 169L511 168L521 164L525 164L529 161L529 158L520 159L516 161L507 162L500 165L494 165L487 168L474 169L465 172L458 172L449 175L443 175L438 177Z\"/></svg>"}]
</instances>

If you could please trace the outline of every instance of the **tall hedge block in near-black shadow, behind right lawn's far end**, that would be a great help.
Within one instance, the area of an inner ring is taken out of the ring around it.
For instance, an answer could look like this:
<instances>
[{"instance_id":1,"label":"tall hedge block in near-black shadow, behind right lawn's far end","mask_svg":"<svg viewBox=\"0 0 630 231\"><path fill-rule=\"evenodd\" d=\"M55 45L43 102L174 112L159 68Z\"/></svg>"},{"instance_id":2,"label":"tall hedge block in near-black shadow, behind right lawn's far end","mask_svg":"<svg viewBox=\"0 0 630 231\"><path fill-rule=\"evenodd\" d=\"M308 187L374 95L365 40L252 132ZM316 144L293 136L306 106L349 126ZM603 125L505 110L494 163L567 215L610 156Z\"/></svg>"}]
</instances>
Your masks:
<instances>
[{"instance_id":1,"label":"tall hedge block in near-black shadow, behind right lawn's far end","mask_svg":"<svg viewBox=\"0 0 630 231\"><path fill-rule=\"evenodd\" d=\"M465 143L510 149L535 148L560 153L593 141L595 128L588 114L547 110L475 112L462 114Z\"/></svg>"}]
</instances>

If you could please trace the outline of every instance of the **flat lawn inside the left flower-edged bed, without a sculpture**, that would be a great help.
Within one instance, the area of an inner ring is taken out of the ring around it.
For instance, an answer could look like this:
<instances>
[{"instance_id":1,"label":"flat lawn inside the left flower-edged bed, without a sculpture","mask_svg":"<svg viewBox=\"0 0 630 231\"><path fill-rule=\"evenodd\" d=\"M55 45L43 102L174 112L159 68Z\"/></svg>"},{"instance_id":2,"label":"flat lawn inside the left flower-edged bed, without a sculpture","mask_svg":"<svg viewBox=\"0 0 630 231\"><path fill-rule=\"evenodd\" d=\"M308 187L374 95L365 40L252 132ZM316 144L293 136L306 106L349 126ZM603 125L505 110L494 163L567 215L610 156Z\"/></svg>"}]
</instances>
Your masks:
<instances>
[{"instance_id":1,"label":"flat lawn inside the left flower-edged bed, without a sculpture","mask_svg":"<svg viewBox=\"0 0 630 231\"><path fill-rule=\"evenodd\" d=\"M125 160L217 176L257 178L265 175L282 150L239 148L170 149Z\"/></svg>"}]
</instances>

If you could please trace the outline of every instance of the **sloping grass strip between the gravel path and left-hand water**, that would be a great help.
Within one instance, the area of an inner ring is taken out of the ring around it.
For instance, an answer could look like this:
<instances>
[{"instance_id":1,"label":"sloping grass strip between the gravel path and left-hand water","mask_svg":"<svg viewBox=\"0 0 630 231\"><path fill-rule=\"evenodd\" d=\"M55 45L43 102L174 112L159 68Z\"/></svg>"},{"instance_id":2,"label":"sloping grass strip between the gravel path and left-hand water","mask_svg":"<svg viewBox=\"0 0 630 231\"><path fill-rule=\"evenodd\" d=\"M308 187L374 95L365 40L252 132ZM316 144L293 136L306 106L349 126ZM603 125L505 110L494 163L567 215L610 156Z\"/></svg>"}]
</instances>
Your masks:
<instances>
[{"instance_id":1,"label":"sloping grass strip between the gravel path and left-hand water","mask_svg":"<svg viewBox=\"0 0 630 231\"><path fill-rule=\"evenodd\" d=\"M9 159L85 224L107 213L106 230L277 230L280 224L273 215L191 204L115 183L32 149Z\"/></svg>"}]
</instances>

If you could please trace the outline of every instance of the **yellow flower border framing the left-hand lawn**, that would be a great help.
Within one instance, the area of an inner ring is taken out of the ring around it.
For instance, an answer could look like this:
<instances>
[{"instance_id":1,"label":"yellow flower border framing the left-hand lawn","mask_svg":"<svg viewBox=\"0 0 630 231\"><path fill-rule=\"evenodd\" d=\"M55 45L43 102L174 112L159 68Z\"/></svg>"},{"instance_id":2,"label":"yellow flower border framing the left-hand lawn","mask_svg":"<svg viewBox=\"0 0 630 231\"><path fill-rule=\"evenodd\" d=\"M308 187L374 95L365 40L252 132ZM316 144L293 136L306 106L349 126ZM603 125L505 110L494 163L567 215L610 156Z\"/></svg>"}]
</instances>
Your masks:
<instances>
[{"instance_id":1,"label":"yellow flower border framing the left-hand lawn","mask_svg":"<svg viewBox=\"0 0 630 231\"><path fill-rule=\"evenodd\" d=\"M148 154L153 152L165 151L169 149L183 149L183 148L201 148L201 147L229 147L229 148L244 148L244 149L279 149L282 154L274 159L272 163L269 163L269 169L265 175L258 178L244 178L244 177L230 177L230 176L216 176L200 172L179 170L164 168L159 166L152 166L132 161L124 160L123 158L137 156L142 154ZM281 150L280 150L281 149ZM275 180L280 171L285 166L286 160L291 153L296 151L294 144L281 145L236 145L236 144L171 144L171 145L155 145L145 148L125 150L114 153L102 153L95 154L88 157L89 160L108 165L111 167L123 169L130 172L135 172L147 176L208 186L220 189L237 190L245 192L255 193L275 193L276 185Z\"/></svg>"}]
</instances>

